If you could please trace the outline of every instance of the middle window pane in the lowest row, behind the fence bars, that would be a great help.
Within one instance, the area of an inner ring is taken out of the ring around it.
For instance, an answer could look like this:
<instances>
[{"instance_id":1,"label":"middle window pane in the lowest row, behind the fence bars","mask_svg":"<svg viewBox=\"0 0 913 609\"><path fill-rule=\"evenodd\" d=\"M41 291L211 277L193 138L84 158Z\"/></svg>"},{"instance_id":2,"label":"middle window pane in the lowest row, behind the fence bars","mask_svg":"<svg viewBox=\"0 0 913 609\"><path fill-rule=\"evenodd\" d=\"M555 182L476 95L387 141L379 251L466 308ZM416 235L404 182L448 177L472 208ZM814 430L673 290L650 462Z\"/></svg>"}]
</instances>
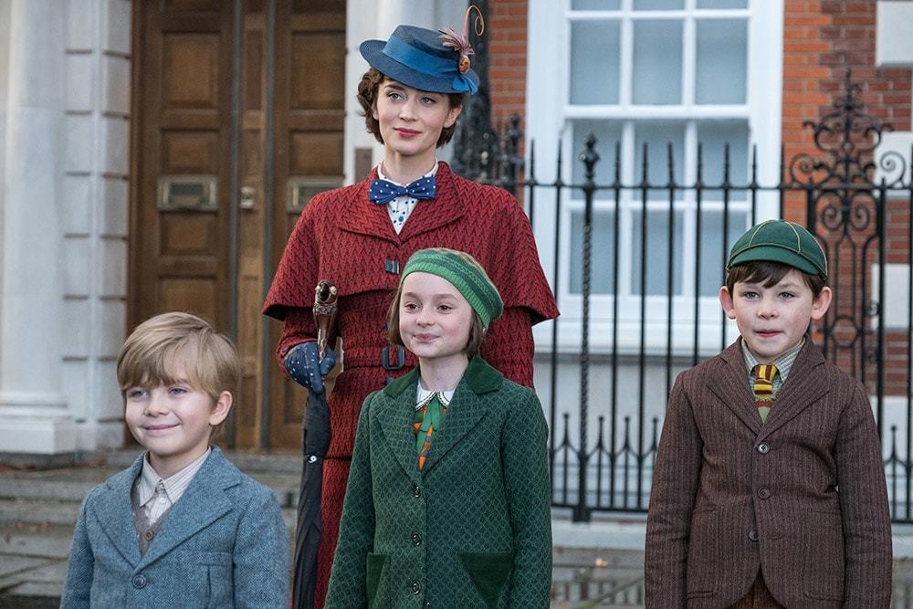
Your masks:
<instances>
[{"instance_id":1,"label":"middle window pane in the lowest row, behind the fence bars","mask_svg":"<svg viewBox=\"0 0 913 609\"><path fill-rule=\"evenodd\" d=\"M668 211L648 211L646 213L646 251L641 249L641 210L635 210L631 215L632 230L632 270L631 293L639 295L641 282L641 268L646 255L646 293L649 296L663 296L669 293L669 213ZM682 235L684 234L682 215L675 215L675 253L673 260L673 294L680 294L682 290L682 269L678 268L682 259Z\"/></svg>"}]
</instances>

